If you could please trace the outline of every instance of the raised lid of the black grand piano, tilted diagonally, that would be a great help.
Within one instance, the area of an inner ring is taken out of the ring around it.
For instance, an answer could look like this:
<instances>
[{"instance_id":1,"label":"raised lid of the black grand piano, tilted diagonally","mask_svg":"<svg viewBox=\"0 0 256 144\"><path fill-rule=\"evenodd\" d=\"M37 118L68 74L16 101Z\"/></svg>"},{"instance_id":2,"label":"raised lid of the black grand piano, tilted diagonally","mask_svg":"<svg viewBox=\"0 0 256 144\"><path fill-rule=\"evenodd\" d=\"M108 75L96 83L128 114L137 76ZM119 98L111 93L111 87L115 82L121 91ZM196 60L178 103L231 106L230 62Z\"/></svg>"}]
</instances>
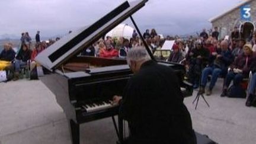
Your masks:
<instances>
[{"instance_id":1,"label":"raised lid of the black grand piano, tilted diagonally","mask_svg":"<svg viewBox=\"0 0 256 144\"><path fill-rule=\"evenodd\" d=\"M36 61L50 71L56 69L71 57L78 55L84 47L90 46L116 25L126 20L130 15L142 8L147 1L124 2L89 27L73 31L71 34L56 41L52 46L41 52L36 57Z\"/></svg>"}]
</instances>

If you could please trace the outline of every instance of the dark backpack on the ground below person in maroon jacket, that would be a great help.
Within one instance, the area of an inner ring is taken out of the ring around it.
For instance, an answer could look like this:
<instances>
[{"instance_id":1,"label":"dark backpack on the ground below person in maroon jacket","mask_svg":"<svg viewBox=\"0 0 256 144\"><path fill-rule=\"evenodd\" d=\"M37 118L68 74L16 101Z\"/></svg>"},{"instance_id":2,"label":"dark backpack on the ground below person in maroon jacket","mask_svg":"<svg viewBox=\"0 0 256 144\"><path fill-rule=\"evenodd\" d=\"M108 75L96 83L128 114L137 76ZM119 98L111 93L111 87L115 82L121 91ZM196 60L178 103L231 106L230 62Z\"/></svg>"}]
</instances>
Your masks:
<instances>
[{"instance_id":1,"label":"dark backpack on the ground below person in maroon jacket","mask_svg":"<svg viewBox=\"0 0 256 144\"><path fill-rule=\"evenodd\" d=\"M228 97L230 98L246 98L247 97L245 89L243 89L241 85L232 85L228 89L227 94L228 94Z\"/></svg>"}]
</instances>

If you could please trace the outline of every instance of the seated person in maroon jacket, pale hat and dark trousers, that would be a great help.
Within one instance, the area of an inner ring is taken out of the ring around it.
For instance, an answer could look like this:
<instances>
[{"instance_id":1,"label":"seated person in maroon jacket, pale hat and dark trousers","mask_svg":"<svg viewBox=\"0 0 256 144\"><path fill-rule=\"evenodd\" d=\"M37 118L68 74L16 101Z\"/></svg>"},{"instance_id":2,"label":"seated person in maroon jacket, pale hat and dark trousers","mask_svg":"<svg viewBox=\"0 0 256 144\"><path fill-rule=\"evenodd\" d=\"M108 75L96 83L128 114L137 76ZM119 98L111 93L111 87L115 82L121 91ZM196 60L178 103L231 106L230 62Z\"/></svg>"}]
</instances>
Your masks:
<instances>
[{"instance_id":1,"label":"seated person in maroon jacket, pale hat and dark trousers","mask_svg":"<svg viewBox=\"0 0 256 144\"><path fill-rule=\"evenodd\" d=\"M244 53L236 58L235 62L231 65L231 71L226 75L225 86L222 94L220 95L222 97L227 95L227 90L232 80L233 85L235 86L241 84L242 79L248 77L249 71L252 69L252 64L255 60L255 56L252 52L252 45L245 44L243 50Z\"/></svg>"}]
</instances>

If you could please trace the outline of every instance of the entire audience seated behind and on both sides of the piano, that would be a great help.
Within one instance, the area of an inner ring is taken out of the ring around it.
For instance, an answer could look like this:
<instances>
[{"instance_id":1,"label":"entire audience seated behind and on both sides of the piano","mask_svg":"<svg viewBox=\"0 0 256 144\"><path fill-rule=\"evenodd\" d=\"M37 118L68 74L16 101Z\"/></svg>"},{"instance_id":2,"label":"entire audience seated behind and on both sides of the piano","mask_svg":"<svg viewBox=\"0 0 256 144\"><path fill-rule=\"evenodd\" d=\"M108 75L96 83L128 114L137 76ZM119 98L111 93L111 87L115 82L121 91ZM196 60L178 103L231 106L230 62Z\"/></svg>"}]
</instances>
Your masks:
<instances>
[{"instance_id":1,"label":"entire audience seated behind and on both sides of the piano","mask_svg":"<svg viewBox=\"0 0 256 144\"><path fill-rule=\"evenodd\" d=\"M217 28L215 28L212 34L207 34L206 30L203 30L199 37L189 37L183 40L178 36L161 38L156 33L156 30L152 29L151 32L146 30L143 38L152 52L161 50L165 40L175 40L172 52L166 60L174 63L183 63L187 69L188 81L193 84L194 88L200 87L199 92L201 94L206 92L206 95L211 95L217 79L223 78L223 91L220 95L222 97L228 96L231 82L233 81L232 87L239 87L244 79L249 77L249 73L252 72L253 75L248 88L249 97L246 103L247 106L251 106L256 103L256 54L254 52L256 49L256 33L253 34L249 41L235 35L231 36L231 40L218 40L218 35ZM11 43L5 44L4 50L0 54L0 70L10 70L14 73L14 80L17 80L21 68L28 65L28 61L31 69L36 66L34 58L47 46L49 45L45 42L37 42L31 50L31 43L27 43L24 37L21 48L16 54L12 50ZM109 36L105 40L100 39L92 46L85 47L80 56L119 57L124 59L127 52L137 46L144 46L144 43L138 37L136 31L133 31L130 39ZM207 82L209 82L209 87L206 89Z\"/></svg>"}]
</instances>

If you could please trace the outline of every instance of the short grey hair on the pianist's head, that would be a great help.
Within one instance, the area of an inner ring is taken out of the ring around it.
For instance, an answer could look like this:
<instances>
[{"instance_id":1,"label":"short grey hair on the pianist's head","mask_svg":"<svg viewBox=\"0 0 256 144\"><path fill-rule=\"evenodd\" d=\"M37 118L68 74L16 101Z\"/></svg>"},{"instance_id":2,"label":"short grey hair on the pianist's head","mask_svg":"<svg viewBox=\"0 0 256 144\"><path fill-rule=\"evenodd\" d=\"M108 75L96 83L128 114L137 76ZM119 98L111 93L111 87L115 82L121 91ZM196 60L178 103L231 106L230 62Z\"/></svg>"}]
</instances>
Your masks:
<instances>
[{"instance_id":1,"label":"short grey hair on the pianist's head","mask_svg":"<svg viewBox=\"0 0 256 144\"><path fill-rule=\"evenodd\" d=\"M149 56L148 52L146 51L145 47L136 47L127 53L126 60L129 63L130 60L134 60L136 62L139 61L146 61L150 60L151 57Z\"/></svg>"}]
</instances>

